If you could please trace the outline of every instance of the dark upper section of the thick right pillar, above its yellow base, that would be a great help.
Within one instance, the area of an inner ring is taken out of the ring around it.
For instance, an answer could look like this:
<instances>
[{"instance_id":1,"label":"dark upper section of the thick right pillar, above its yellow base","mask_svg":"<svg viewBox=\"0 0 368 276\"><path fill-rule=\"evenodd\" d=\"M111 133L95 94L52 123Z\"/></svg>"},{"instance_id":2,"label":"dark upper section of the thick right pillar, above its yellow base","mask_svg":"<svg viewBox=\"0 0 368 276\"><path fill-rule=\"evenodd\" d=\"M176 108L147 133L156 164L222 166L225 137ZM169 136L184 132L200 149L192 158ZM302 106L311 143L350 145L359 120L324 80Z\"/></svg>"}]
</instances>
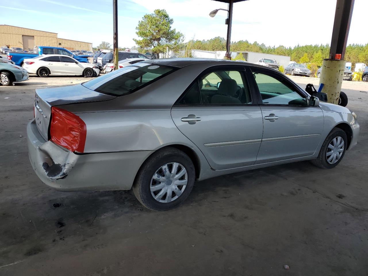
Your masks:
<instances>
[{"instance_id":1,"label":"dark upper section of the thick right pillar, above its yellow base","mask_svg":"<svg viewBox=\"0 0 368 276\"><path fill-rule=\"evenodd\" d=\"M332 29L330 60L344 59L353 7L354 0L337 0L335 21Z\"/></svg>"}]
</instances>

